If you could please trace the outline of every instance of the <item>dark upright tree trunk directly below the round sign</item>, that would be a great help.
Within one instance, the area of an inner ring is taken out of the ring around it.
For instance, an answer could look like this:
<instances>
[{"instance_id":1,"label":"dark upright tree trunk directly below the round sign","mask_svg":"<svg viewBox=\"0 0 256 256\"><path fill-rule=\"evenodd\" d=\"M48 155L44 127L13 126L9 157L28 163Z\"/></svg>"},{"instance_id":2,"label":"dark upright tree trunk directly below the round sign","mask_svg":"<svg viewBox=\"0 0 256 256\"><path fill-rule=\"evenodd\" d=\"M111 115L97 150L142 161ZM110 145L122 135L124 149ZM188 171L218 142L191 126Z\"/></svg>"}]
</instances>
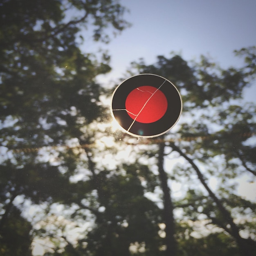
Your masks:
<instances>
[{"instance_id":1,"label":"dark upright tree trunk directly below the round sign","mask_svg":"<svg viewBox=\"0 0 256 256\"><path fill-rule=\"evenodd\" d=\"M157 157L157 166L159 171L159 178L161 181L163 191L163 202L164 202L164 222L165 222L165 233L166 233L166 256L177 255L177 242L175 240L175 224L173 217L173 203L171 200L171 190L168 187L168 177L164 171L164 147L165 144L159 144L159 151Z\"/></svg>"}]
</instances>

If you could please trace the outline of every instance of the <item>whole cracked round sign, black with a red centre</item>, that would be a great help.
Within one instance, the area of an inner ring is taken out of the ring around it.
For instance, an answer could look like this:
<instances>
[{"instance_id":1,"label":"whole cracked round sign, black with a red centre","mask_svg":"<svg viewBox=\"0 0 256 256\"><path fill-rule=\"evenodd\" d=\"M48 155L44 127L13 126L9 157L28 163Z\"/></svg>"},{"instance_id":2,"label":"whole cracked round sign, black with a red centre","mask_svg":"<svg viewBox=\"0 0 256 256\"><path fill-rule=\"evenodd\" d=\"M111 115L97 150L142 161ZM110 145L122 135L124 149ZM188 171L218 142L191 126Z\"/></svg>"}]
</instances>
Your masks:
<instances>
[{"instance_id":1,"label":"whole cracked round sign, black with a red centre","mask_svg":"<svg viewBox=\"0 0 256 256\"><path fill-rule=\"evenodd\" d=\"M181 112L179 91L162 76L132 76L112 94L112 116L125 132L136 137L164 134L177 123Z\"/></svg>"}]
</instances>

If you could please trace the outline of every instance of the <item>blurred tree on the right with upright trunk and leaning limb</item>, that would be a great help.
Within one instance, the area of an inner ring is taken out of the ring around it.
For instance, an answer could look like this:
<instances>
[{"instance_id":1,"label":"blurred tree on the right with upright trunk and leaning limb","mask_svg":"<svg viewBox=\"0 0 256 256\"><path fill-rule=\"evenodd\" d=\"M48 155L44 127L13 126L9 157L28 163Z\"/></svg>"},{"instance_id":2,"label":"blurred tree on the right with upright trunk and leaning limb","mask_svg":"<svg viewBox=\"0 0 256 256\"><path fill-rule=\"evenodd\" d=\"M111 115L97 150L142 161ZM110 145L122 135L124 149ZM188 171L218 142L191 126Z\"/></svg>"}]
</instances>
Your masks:
<instances>
[{"instance_id":1,"label":"blurred tree on the right with upright trunk and leaning limb","mask_svg":"<svg viewBox=\"0 0 256 256\"><path fill-rule=\"evenodd\" d=\"M146 65L143 59L138 63L132 63L130 74L153 73L172 81L181 91L184 103L184 118L180 121L175 136L180 136L179 142L175 142L174 135L169 132L158 141L159 149L156 152L163 191L166 255L181 253L176 247L179 239L176 238L175 241L175 204L184 211L186 218L193 221L196 218L209 220L223 232L227 232L236 241L240 255L255 254L256 242L252 228L254 222L251 219L251 216L254 216L255 203L236 195L234 187L230 186L227 180L235 179L246 172L249 172L247 175L251 175L251 179L255 179L252 175L255 175L256 148L249 143L249 138L254 138L256 130L255 106L244 106L238 100L243 89L252 83L255 76L255 47L242 49L236 53L245 57L246 65L241 69L231 67L223 70L204 56L200 63L190 65L177 55L170 59L158 56L154 65ZM171 153L168 148L171 149ZM184 182L195 173L204 191L200 192L199 188L193 187L193 183L188 184L187 186L193 189L188 190L189 194L182 203L173 202L168 186L168 174L164 171L164 157L177 157L177 153L187 163L169 170L172 172L169 175L174 180ZM207 184L207 180L213 175L222 182L217 191L213 191ZM201 193L201 197L198 198L198 194ZM236 218L239 218L238 216L246 209L249 215L244 218L246 223L250 224L241 225L237 223ZM243 238L241 230L246 230L249 237Z\"/></svg>"}]
</instances>

